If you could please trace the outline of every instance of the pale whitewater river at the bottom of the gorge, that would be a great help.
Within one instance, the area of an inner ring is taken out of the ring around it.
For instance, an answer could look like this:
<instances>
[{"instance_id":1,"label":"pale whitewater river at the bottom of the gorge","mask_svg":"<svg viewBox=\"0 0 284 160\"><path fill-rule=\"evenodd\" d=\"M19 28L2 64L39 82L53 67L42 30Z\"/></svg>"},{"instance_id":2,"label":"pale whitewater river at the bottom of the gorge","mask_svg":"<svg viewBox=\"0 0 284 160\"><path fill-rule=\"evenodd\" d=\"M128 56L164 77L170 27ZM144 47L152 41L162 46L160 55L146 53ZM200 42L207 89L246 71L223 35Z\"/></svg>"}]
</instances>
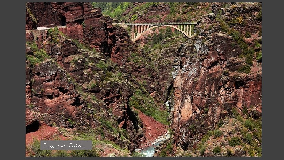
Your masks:
<instances>
[{"instance_id":1,"label":"pale whitewater river at the bottom of the gorge","mask_svg":"<svg viewBox=\"0 0 284 160\"><path fill-rule=\"evenodd\" d=\"M155 153L155 147L159 146L161 142L163 142L164 140L167 140L170 138L170 134L169 132L167 132L164 135L161 135L159 138L157 138L152 145L150 145L149 147L146 147L144 149L136 149L137 152L141 153L143 156L145 157L152 157Z\"/></svg>"}]
</instances>

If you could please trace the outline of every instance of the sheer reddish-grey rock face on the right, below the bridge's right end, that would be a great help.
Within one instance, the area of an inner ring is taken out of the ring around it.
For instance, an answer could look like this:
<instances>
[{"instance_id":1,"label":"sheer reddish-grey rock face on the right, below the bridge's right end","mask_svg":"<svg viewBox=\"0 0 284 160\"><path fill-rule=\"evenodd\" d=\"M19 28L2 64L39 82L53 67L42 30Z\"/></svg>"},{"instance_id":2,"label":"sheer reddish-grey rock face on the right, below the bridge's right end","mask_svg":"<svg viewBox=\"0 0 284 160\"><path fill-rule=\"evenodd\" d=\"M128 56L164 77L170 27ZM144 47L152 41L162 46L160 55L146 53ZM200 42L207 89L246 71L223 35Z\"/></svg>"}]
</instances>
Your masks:
<instances>
[{"instance_id":1,"label":"sheer reddish-grey rock face on the right, below the bridge's right end","mask_svg":"<svg viewBox=\"0 0 284 160\"><path fill-rule=\"evenodd\" d=\"M174 81L174 107L172 128L175 129L175 140L185 148L194 144L193 136L215 126L225 111L237 107L241 112L243 107L250 108L261 104L261 71L256 73L223 75L228 57L234 49L221 43L229 37L213 35L209 39L213 43L201 44L200 40L181 50L196 54L181 60L182 68ZM227 48L228 47L228 48ZM227 48L226 51L223 49ZM196 49L196 51L194 51ZM216 52L219 50L219 52ZM222 53L222 50L224 51ZM188 131L193 125L197 132Z\"/></svg>"}]
</instances>

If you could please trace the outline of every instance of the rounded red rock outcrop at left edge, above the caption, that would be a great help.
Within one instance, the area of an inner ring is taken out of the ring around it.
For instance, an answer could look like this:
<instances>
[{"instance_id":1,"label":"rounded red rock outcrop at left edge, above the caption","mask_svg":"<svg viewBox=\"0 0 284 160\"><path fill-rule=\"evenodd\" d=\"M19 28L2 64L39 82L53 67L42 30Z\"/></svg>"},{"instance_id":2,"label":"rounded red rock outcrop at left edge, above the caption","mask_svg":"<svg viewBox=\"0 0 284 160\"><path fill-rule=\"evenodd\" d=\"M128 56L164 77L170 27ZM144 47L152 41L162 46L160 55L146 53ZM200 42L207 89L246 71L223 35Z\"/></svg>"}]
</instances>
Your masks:
<instances>
[{"instance_id":1,"label":"rounded red rock outcrop at left edge, above the caption","mask_svg":"<svg viewBox=\"0 0 284 160\"><path fill-rule=\"evenodd\" d=\"M84 109L82 97L75 91L75 84L68 80L66 71L59 68L55 62L46 60L35 65L29 73L30 78L26 84L30 86L27 90L30 96L26 99L30 103L27 105L33 105L36 112L47 114L47 122L74 127L74 124L68 122L68 119L72 119L81 122L81 125L93 126L92 118L82 114L83 110L87 109Z\"/></svg>"}]
</instances>

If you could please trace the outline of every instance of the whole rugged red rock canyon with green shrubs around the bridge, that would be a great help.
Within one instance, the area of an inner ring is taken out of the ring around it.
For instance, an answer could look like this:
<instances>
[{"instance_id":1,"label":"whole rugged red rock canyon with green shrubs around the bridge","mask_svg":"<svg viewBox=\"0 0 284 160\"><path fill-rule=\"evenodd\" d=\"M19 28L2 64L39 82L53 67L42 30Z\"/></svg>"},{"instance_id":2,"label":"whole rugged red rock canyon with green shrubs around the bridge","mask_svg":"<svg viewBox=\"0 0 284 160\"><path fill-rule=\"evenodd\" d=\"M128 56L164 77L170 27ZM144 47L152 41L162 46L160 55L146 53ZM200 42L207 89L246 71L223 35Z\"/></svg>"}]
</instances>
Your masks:
<instances>
[{"instance_id":1,"label":"whole rugged red rock canyon with green shrubs around the bridge","mask_svg":"<svg viewBox=\"0 0 284 160\"><path fill-rule=\"evenodd\" d=\"M98 148L86 155L135 156L168 133L154 156L261 156L261 3L132 3L122 16L198 25L134 43L91 3L26 4L26 145L85 138Z\"/></svg>"}]
</instances>

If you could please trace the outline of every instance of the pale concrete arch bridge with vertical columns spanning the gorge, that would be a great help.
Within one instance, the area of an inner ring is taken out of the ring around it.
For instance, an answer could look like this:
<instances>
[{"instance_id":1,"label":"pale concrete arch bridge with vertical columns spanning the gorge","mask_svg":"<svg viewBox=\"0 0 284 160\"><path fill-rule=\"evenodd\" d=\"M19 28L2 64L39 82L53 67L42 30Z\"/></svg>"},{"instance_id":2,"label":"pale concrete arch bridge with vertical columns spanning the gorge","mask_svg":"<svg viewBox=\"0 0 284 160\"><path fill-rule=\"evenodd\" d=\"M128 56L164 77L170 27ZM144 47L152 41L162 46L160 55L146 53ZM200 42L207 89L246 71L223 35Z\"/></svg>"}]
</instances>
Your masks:
<instances>
[{"instance_id":1,"label":"pale concrete arch bridge with vertical columns spanning the gorge","mask_svg":"<svg viewBox=\"0 0 284 160\"><path fill-rule=\"evenodd\" d=\"M176 30L183 33L188 38L191 37L191 26L197 26L197 23L191 22L164 22L164 23L112 23L112 25L120 25L123 28L130 26L131 28L131 40L135 42L141 36L143 36L146 31L151 30L152 28L166 26L175 28Z\"/></svg>"}]
</instances>

